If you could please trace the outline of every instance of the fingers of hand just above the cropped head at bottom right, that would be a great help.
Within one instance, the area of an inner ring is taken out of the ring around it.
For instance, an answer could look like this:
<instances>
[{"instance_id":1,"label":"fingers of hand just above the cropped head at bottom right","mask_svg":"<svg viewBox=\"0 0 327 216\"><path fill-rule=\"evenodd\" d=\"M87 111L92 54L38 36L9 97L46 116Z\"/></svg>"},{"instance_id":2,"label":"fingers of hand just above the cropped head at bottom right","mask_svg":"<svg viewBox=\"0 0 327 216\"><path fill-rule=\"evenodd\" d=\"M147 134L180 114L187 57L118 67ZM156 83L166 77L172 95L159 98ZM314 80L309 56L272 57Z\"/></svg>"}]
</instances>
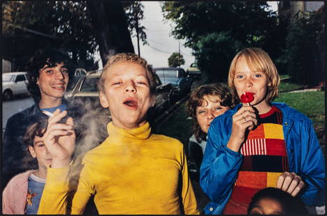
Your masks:
<instances>
[{"instance_id":1,"label":"fingers of hand just above the cropped head at bottom right","mask_svg":"<svg viewBox=\"0 0 327 216\"><path fill-rule=\"evenodd\" d=\"M304 186L305 183L300 176L296 175L296 173L285 171L277 180L277 188L291 194L292 196L296 196Z\"/></svg>"}]
</instances>

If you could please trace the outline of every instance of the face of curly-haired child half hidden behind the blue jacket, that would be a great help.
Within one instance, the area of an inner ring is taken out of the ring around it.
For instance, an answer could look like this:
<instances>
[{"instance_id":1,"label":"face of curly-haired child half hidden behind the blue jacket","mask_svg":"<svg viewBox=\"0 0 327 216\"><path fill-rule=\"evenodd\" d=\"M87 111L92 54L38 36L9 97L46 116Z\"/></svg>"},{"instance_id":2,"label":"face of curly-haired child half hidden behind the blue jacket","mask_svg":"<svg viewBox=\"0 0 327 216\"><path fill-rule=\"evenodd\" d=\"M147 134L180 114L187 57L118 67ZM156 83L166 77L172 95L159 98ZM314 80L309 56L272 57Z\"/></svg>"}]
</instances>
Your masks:
<instances>
[{"instance_id":1,"label":"face of curly-haired child half hidden behind the blue jacket","mask_svg":"<svg viewBox=\"0 0 327 216\"><path fill-rule=\"evenodd\" d=\"M230 107L221 106L221 98L218 95L205 95L202 100L202 106L196 107L196 119L202 132L207 134L212 120L225 113Z\"/></svg>"}]
</instances>

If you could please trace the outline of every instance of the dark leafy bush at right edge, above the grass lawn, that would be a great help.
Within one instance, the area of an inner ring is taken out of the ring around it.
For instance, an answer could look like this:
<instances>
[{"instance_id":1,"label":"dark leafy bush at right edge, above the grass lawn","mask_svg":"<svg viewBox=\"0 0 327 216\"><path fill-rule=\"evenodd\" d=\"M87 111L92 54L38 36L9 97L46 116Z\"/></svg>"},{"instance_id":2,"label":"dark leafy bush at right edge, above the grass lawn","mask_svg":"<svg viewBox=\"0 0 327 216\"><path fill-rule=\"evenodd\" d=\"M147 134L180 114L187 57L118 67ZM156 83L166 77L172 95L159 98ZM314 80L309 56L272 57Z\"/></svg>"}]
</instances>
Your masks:
<instances>
[{"instance_id":1,"label":"dark leafy bush at right edge, above the grass lawn","mask_svg":"<svg viewBox=\"0 0 327 216\"><path fill-rule=\"evenodd\" d=\"M290 24L283 58L287 72L299 84L317 85L325 80L325 13L298 13Z\"/></svg>"}]
</instances>

